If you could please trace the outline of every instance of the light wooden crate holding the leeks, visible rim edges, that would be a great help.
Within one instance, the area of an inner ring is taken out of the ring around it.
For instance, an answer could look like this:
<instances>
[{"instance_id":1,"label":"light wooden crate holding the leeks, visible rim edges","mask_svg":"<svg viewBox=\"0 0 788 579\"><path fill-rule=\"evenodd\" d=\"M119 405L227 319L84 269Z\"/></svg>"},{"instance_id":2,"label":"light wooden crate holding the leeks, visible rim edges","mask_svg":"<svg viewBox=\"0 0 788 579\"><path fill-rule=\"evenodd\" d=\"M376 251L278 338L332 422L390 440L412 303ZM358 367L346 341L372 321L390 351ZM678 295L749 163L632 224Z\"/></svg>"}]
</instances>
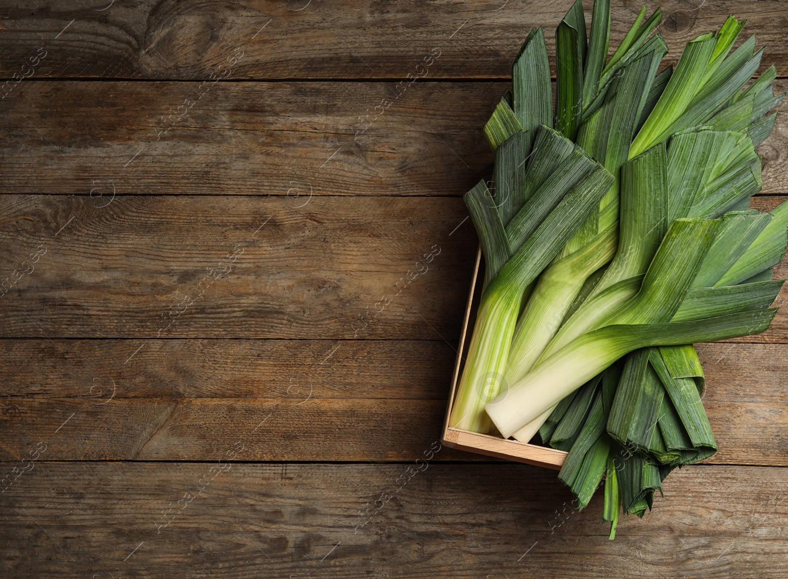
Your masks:
<instances>
[{"instance_id":1,"label":"light wooden crate holding the leeks, visible rim edges","mask_svg":"<svg viewBox=\"0 0 788 579\"><path fill-rule=\"evenodd\" d=\"M448 395L446 406L446 418L444 419L443 433L440 436L442 442L453 448L463 451L477 452L480 455L495 456L497 458L508 458L517 462L527 462L530 465L546 466L549 469L559 470L563 465L563 460L567 453L556 450L555 448L540 447L536 444L526 444L517 440L505 440L500 436L490 436L489 434L479 434L467 430L453 429L449 427L448 420L452 415L452 405L454 403L457 381L463 371L464 358L463 352L468 349L470 337L473 335L474 324L476 322L476 312L481 299L481 284L484 277L479 276L481 267L481 247L476 254L476 265L474 275L470 280L470 291L468 292L468 302L465 306L465 316L463 317L463 329L459 334L459 346L457 347L457 359L454 364L454 374L452 376L452 388Z\"/></svg>"}]
</instances>

